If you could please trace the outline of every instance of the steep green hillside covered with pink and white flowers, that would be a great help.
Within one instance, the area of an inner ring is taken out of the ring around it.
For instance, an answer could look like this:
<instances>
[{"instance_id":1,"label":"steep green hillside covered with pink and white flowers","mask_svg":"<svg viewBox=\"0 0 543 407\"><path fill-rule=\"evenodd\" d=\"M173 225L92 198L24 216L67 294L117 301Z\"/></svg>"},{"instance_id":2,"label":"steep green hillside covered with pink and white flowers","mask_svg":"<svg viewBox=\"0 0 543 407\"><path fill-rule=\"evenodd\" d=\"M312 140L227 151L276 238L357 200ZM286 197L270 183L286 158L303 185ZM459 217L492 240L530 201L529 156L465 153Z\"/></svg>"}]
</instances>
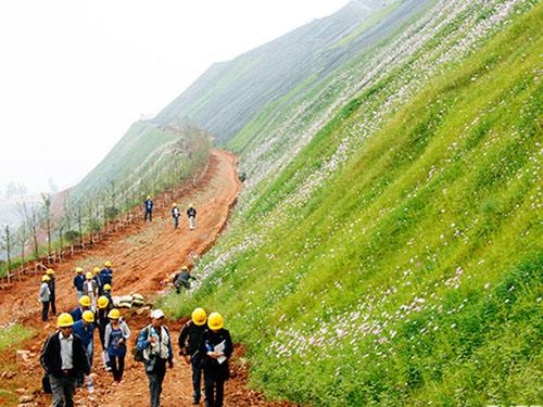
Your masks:
<instances>
[{"instance_id":1,"label":"steep green hillside covered with pink and white flowers","mask_svg":"<svg viewBox=\"0 0 543 407\"><path fill-rule=\"evenodd\" d=\"M273 397L541 404L542 20L438 1L267 104L229 231L163 305L224 311Z\"/></svg>"}]
</instances>

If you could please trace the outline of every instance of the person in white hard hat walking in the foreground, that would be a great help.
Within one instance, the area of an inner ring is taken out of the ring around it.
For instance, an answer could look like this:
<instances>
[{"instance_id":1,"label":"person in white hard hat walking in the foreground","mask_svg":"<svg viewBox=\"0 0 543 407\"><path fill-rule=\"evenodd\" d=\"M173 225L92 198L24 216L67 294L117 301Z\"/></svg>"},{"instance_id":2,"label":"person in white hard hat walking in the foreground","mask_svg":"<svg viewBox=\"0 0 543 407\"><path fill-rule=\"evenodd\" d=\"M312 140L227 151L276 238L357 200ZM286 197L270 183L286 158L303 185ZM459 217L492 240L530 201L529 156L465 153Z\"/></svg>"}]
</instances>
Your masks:
<instances>
[{"instance_id":1,"label":"person in white hard hat walking in the foreground","mask_svg":"<svg viewBox=\"0 0 543 407\"><path fill-rule=\"evenodd\" d=\"M151 407L160 407L162 382L166 376L166 363L174 367L174 351L168 329L164 326L165 315L161 309L151 313L151 323L138 335L138 351L143 353L143 365L149 379Z\"/></svg>"}]
</instances>

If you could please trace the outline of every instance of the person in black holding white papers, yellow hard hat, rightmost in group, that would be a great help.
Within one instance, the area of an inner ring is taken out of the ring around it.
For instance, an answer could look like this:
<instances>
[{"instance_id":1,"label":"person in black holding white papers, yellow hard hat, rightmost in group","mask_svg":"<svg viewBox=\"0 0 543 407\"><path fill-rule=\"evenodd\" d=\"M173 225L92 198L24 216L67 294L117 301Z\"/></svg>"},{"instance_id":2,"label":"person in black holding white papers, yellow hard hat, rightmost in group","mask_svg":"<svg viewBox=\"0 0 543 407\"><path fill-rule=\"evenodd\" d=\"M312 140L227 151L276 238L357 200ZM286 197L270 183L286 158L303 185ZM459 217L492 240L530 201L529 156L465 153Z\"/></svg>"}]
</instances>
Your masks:
<instances>
[{"instance_id":1,"label":"person in black holding white papers, yellow hard hat, rightmost in group","mask_svg":"<svg viewBox=\"0 0 543 407\"><path fill-rule=\"evenodd\" d=\"M200 353L203 357L205 404L222 407L225 381L230 378L228 358L233 352L230 332L224 328L224 318L218 313L210 314L207 328L202 334Z\"/></svg>"}]
</instances>

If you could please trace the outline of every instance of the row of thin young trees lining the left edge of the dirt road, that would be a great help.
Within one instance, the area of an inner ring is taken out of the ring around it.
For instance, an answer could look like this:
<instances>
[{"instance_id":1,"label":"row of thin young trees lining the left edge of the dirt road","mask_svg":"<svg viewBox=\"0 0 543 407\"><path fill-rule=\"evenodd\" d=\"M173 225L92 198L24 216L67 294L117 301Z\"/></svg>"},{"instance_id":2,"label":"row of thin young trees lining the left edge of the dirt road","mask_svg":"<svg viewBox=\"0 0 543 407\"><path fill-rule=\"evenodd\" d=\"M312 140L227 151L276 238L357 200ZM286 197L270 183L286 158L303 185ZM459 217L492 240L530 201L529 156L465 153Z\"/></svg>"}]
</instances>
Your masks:
<instances>
[{"instance_id":1,"label":"row of thin young trees lining the left edge of the dirt road","mask_svg":"<svg viewBox=\"0 0 543 407\"><path fill-rule=\"evenodd\" d=\"M21 225L4 226L1 231L4 260L0 270L8 283L15 269L26 272L35 269L38 260L60 262L63 256L72 256L132 222L140 216L146 195L165 192L156 202L160 207L171 204L181 192L181 186L193 183L207 164L210 135L189 125L171 127L168 131L179 132L179 139L160 157L134 174L110 180L101 190L83 194L67 190L56 195L54 202L50 194L43 193L39 203L20 204Z\"/></svg>"}]
</instances>

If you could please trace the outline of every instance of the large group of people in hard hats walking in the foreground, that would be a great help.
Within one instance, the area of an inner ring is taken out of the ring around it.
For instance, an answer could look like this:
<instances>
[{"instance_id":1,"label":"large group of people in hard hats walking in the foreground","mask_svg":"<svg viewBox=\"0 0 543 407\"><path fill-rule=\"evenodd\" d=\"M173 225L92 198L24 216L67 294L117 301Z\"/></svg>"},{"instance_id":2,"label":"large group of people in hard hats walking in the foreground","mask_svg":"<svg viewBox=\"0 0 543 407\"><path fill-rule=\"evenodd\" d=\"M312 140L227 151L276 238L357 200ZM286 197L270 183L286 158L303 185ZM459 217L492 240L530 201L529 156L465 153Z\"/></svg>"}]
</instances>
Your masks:
<instances>
[{"instance_id":1,"label":"large group of people in hard hats walking in the foreground","mask_svg":"<svg viewBox=\"0 0 543 407\"><path fill-rule=\"evenodd\" d=\"M46 341L40 357L46 371L43 381L50 387L54 407L73 406L75 389L85 384L85 377L87 384L92 385L90 373L97 328L103 367L111 372L113 385L122 385L131 334L127 321L123 319L119 309L114 307L111 296L112 264L105 262L103 269L94 268L92 272L84 274L81 268L76 268L75 272L74 288L78 306L58 317L58 330ZM186 267L181 272L191 277ZM50 307L51 313L55 314L52 269L48 269L42 277L40 298L48 303L47 310L45 304L42 313L43 320L48 320ZM164 313L154 309L151 322L139 332L132 351L135 360L143 363L152 407L160 406L167 367L174 367L172 335L164 322ZM199 405L202 398L203 376L205 405L222 406L224 383L229 377L228 358L233 352L230 333L224 328L223 316L218 313L207 316L203 308L194 309L191 319L180 331L178 346L179 355L191 366L193 404Z\"/></svg>"}]
</instances>

